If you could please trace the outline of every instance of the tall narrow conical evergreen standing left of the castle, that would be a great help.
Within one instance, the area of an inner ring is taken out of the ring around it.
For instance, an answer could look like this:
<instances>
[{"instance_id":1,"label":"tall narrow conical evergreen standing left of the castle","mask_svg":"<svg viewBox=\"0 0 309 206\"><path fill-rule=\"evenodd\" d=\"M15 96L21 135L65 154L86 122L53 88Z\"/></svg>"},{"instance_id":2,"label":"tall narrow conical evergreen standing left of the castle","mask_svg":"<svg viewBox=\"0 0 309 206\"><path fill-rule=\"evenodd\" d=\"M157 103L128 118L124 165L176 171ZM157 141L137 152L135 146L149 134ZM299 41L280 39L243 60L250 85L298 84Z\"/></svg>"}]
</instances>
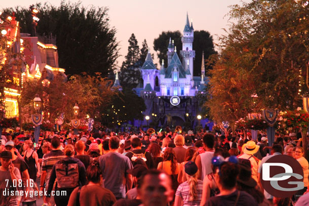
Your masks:
<instances>
[{"instance_id":1,"label":"tall narrow conical evergreen standing left of the castle","mask_svg":"<svg viewBox=\"0 0 309 206\"><path fill-rule=\"evenodd\" d=\"M120 84L124 88L135 88L140 79L139 71L139 46L137 44L137 39L134 33L128 40L128 54L126 60L122 63L121 73L120 73Z\"/></svg>"}]
</instances>

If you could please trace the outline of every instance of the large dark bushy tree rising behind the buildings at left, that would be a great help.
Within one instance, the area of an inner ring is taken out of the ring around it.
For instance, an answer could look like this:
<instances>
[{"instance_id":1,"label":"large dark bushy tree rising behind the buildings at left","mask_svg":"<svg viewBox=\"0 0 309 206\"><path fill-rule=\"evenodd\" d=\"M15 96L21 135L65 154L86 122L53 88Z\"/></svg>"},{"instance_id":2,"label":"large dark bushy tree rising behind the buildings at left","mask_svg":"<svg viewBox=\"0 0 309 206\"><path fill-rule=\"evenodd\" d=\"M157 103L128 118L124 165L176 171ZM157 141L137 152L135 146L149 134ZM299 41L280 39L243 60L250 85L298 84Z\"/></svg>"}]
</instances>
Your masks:
<instances>
[{"instance_id":1,"label":"large dark bushy tree rising behind the buildings at left","mask_svg":"<svg viewBox=\"0 0 309 206\"><path fill-rule=\"evenodd\" d=\"M56 36L59 66L66 69L66 74L101 72L102 76L107 76L115 66L119 50L116 30L109 25L106 7L86 8L81 2L65 1L59 7L47 3L35 7L40 11L36 33ZM29 32L32 29L30 10L16 7L15 13L21 32Z\"/></svg>"}]
</instances>

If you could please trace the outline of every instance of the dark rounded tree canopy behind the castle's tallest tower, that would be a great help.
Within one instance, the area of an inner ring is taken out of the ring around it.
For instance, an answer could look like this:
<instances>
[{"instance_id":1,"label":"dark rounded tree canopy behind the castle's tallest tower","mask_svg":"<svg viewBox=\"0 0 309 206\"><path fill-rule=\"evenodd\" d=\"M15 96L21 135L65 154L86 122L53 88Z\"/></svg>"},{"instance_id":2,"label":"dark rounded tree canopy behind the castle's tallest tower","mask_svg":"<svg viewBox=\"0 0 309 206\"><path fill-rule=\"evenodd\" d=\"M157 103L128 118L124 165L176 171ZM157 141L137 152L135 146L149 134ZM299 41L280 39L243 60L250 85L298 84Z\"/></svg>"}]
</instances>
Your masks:
<instances>
[{"instance_id":1,"label":"dark rounded tree canopy behind the castle's tallest tower","mask_svg":"<svg viewBox=\"0 0 309 206\"><path fill-rule=\"evenodd\" d=\"M160 59L160 64L162 63L162 59L164 62L167 62L167 47L169 45L170 38L174 40L174 45L177 49L177 54L179 55L179 51L182 50L181 43L181 32L180 31L163 31L158 38L153 41L153 49L157 52L158 58ZM209 58L210 55L216 54L217 52L214 50L214 44L212 36L208 31L194 31L194 42L193 49L196 52L196 57L194 59L194 76L201 75L201 65L202 65L202 52L204 51L205 60ZM211 69L210 66L205 68L206 70Z\"/></svg>"}]
</instances>

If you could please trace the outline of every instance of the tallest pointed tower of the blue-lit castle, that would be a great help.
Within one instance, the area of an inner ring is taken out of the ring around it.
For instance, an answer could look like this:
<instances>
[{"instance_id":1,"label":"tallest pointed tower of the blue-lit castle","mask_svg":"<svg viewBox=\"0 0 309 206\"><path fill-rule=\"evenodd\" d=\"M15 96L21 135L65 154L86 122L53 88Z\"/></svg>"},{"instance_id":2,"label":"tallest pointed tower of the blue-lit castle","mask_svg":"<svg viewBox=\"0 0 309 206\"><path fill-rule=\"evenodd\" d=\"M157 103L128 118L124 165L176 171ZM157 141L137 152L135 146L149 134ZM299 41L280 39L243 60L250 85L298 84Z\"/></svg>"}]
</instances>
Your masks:
<instances>
[{"instance_id":1,"label":"tallest pointed tower of the blue-lit castle","mask_svg":"<svg viewBox=\"0 0 309 206\"><path fill-rule=\"evenodd\" d=\"M185 70L189 69L191 76L193 76L193 58L195 57L195 51L192 50L194 40L194 29L193 24L189 23L188 14L186 17L186 23L183 29L183 35L181 37L182 51L180 56L182 57L182 65ZM189 61L189 64L187 62Z\"/></svg>"}]
</instances>

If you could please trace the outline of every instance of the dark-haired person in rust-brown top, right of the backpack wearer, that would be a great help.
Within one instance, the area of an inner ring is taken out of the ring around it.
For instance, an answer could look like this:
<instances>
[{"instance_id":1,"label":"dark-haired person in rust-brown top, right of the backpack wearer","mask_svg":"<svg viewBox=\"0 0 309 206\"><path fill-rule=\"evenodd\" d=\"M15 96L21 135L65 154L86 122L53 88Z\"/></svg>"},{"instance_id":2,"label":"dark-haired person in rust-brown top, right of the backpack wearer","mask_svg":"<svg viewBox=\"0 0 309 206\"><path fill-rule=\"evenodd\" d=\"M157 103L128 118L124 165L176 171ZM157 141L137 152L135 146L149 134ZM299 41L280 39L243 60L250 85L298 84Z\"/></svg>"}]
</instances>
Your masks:
<instances>
[{"instance_id":1,"label":"dark-haired person in rust-brown top, right of the backpack wearer","mask_svg":"<svg viewBox=\"0 0 309 206\"><path fill-rule=\"evenodd\" d=\"M91 162L87 168L86 177L89 183L83 187L76 187L72 191L68 206L111 206L115 203L116 198L113 193L101 187L102 171L97 162Z\"/></svg>"}]
</instances>

